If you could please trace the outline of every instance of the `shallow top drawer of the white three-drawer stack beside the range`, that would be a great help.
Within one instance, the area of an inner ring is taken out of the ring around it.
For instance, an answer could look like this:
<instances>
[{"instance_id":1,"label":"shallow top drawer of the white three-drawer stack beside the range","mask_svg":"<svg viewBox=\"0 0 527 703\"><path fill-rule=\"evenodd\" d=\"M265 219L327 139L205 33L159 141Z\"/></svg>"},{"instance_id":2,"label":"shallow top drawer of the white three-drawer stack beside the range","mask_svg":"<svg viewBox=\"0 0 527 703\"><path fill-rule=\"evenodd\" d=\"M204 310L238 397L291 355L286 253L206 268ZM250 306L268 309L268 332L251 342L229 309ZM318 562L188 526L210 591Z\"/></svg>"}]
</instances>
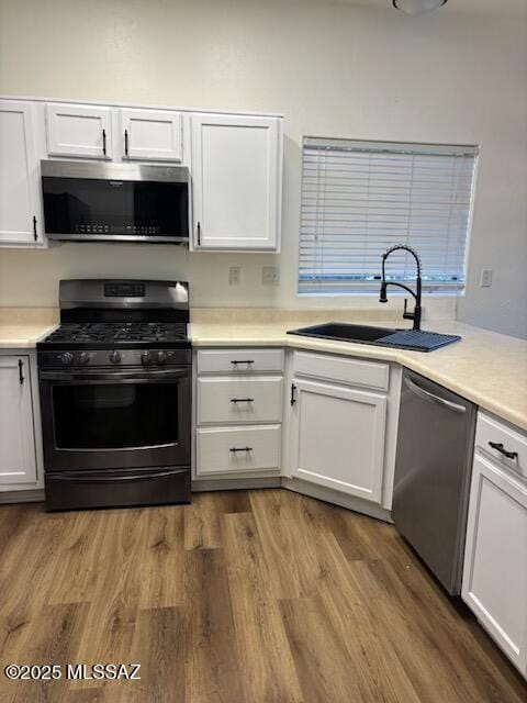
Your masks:
<instances>
[{"instance_id":1,"label":"shallow top drawer of the white three-drawer stack beside the range","mask_svg":"<svg viewBox=\"0 0 527 703\"><path fill-rule=\"evenodd\" d=\"M198 373L255 373L282 371L282 349L202 349Z\"/></svg>"}]
</instances>

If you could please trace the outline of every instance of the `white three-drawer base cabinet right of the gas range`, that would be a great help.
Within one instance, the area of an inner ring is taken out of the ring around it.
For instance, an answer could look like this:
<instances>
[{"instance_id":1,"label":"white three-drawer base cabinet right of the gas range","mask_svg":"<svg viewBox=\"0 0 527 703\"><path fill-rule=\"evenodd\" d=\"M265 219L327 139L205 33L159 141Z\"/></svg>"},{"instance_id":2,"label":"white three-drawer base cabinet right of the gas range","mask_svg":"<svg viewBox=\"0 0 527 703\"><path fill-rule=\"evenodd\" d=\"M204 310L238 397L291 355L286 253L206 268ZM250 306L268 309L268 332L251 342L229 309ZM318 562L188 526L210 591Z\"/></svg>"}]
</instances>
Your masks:
<instances>
[{"instance_id":1,"label":"white three-drawer base cabinet right of the gas range","mask_svg":"<svg viewBox=\"0 0 527 703\"><path fill-rule=\"evenodd\" d=\"M278 476L283 352L197 352L194 480Z\"/></svg>"}]
</instances>

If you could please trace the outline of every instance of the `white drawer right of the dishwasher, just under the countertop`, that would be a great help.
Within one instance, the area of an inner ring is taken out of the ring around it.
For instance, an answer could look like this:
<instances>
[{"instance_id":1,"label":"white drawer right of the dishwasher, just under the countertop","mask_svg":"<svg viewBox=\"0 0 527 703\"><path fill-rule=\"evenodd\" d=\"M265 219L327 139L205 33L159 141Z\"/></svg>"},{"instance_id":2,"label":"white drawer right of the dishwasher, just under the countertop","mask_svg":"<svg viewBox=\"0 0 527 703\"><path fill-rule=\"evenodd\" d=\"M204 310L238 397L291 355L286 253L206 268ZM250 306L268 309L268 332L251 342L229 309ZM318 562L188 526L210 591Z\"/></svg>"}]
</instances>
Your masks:
<instances>
[{"instance_id":1,"label":"white drawer right of the dishwasher, just under the countertop","mask_svg":"<svg viewBox=\"0 0 527 703\"><path fill-rule=\"evenodd\" d=\"M503 447L496 449L491 446L491 442L493 445L503 445ZM527 436L519 431L512 429L480 412L475 427L475 446L492 456L498 466L527 479ZM507 457L504 451L516 453L517 456Z\"/></svg>"}]
</instances>

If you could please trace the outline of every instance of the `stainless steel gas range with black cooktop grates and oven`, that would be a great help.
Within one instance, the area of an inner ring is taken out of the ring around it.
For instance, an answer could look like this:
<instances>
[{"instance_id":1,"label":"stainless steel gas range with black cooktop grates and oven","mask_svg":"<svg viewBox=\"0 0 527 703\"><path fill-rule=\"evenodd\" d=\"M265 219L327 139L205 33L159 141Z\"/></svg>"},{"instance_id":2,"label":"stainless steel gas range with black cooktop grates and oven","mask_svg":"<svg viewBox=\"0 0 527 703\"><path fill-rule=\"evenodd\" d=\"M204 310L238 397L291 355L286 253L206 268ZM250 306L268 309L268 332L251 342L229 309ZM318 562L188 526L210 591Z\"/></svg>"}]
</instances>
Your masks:
<instances>
[{"instance_id":1,"label":"stainless steel gas range with black cooktop grates and oven","mask_svg":"<svg viewBox=\"0 0 527 703\"><path fill-rule=\"evenodd\" d=\"M48 510L190 501L189 288L63 280L37 344Z\"/></svg>"}]
</instances>

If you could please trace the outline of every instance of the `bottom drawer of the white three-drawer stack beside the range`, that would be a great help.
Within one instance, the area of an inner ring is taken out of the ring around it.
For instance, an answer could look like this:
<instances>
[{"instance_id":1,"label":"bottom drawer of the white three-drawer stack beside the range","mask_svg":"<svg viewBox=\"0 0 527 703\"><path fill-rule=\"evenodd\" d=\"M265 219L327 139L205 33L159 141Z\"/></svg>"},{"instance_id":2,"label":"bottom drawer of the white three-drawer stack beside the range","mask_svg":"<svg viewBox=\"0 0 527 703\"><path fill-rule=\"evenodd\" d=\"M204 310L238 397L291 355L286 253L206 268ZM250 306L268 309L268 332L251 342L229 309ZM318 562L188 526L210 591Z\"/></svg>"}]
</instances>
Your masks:
<instances>
[{"instance_id":1,"label":"bottom drawer of the white three-drawer stack beside the range","mask_svg":"<svg viewBox=\"0 0 527 703\"><path fill-rule=\"evenodd\" d=\"M201 427L197 437L198 476L280 468L280 425Z\"/></svg>"}]
</instances>

